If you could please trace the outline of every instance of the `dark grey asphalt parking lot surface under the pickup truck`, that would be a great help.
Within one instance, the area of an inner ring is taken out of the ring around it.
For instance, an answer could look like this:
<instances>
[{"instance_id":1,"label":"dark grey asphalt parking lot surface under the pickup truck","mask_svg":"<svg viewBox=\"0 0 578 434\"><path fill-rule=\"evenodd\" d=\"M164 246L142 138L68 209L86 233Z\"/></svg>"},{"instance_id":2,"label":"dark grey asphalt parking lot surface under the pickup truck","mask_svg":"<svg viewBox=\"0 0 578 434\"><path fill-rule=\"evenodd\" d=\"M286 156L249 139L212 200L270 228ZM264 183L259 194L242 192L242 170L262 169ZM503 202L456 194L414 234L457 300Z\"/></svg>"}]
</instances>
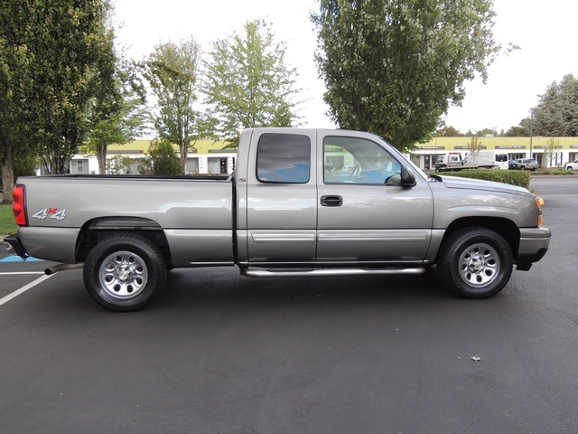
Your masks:
<instances>
[{"instance_id":1,"label":"dark grey asphalt parking lot surface under the pickup truck","mask_svg":"<svg viewBox=\"0 0 578 434\"><path fill-rule=\"evenodd\" d=\"M578 432L574 178L533 179L550 250L485 300L176 269L112 313L81 270L0 253L0 432Z\"/></svg>"}]
</instances>

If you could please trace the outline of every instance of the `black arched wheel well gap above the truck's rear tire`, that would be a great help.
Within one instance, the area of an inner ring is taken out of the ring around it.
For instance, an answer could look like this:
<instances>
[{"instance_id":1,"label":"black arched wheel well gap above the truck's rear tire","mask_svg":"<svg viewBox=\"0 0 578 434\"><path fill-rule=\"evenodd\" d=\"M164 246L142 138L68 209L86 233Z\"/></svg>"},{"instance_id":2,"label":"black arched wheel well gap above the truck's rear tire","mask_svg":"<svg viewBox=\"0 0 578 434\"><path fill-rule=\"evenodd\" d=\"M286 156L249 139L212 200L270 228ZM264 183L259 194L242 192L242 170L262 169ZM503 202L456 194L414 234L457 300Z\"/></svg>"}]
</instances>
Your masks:
<instances>
[{"instance_id":1,"label":"black arched wheel well gap above the truck's rear tire","mask_svg":"<svg viewBox=\"0 0 578 434\"><path fill-rule=\"evenodd\" d=\"M120 232L135 233L152 241L163 252L167 268L172 269L171 249L163 229L157 222L141 217L98 218L86 222L79 233L76 260L83 262L99 241Z\"/></svg>"}]
</instances>

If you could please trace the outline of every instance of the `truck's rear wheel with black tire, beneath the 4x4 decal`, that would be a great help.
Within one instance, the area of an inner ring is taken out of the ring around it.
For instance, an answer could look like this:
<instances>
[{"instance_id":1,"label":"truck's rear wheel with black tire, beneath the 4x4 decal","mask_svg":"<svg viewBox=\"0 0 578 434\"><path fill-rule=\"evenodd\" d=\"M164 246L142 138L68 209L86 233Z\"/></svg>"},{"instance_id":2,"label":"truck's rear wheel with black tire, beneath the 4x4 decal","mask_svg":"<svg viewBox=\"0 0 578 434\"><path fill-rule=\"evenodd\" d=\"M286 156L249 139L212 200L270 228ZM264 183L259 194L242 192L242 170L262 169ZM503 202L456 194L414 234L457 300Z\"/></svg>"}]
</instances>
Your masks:
<instances>
[{"instance_id":1,"label":"truck's rear wheel with black tire, beneath the 4x4 decal","mask_svg":"<svg viewBox=\"0 0 578 434\"><path fill-rule=\"evenodd\" d=\"M167 266L147 238L120 233L99 241L84 263L84 285L99 305L129 311L144 307L161 292Z\"/></svg>"}]
</instances>

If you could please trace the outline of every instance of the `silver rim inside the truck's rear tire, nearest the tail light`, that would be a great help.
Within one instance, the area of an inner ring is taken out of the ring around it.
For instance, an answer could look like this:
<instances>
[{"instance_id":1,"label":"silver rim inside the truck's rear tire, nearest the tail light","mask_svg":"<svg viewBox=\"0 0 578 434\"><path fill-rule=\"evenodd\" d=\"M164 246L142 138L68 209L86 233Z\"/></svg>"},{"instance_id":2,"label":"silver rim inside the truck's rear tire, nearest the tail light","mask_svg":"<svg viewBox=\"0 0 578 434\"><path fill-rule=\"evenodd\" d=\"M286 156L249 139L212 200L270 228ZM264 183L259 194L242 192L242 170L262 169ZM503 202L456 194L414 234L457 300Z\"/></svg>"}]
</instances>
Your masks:
<instances>
[{"instance_id":1,"label":"silver rim inside the truck's rear tire, nearest the tail light","mask_svg":"<svg viewBox=\"0 0 578 434\"><path fill-rule=\"evenodd\" d=\"M116 251L108 255L98 269L100 285L113 297L131 298L138 295L148 281L144 260L131 251Z\"/></svg>"}]
</instances>

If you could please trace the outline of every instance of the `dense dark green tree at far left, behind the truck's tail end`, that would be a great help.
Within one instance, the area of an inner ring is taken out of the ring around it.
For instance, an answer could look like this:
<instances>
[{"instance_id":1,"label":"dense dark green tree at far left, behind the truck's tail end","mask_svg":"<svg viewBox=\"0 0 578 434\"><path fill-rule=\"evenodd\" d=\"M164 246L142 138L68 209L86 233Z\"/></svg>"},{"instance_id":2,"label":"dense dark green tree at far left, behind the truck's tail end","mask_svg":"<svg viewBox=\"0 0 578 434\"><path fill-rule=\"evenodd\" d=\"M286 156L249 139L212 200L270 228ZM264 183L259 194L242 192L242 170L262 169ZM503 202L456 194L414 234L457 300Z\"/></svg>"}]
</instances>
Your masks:
<instances>
[{"instance_id":1,"label":"dense dark green tree at far left, behind the truck's tail end","mask_svg":"<svg viewBox=\"0 0 578 434\"><path fill-rule=\"evenodd\" d=\"M107 74L112 33L106 0L8 0L9 49L22 58L11 74L21 89L23 146L36 150L46 172L68 173L89 130L89 102Z\"/></svg>"}]
</instances>

